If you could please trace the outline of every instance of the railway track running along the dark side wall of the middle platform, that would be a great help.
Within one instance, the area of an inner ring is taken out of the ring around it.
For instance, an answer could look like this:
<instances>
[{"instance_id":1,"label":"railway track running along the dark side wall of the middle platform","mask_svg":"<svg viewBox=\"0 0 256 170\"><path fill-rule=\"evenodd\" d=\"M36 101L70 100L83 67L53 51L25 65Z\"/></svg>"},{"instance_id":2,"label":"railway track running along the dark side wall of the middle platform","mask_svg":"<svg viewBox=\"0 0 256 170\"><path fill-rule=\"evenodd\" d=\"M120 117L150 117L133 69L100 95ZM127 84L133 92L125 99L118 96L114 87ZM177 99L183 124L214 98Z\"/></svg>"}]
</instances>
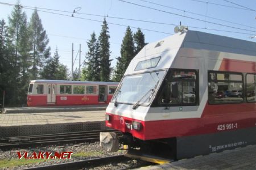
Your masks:
<instances>
[{"instance_id":1,"label":"railway track running along the dark side wall of the middle platform","mask_svg":"<svg viewBox=\"0 0 256 170\"><path fill-rule=\"evenodd\" d=\"M58 133L31 135L23 137L9 137L0 139L0 149L25 148L34 146L56 145L63 143L97 142L100 141L100 132L116 130L93 130L73 133Z\"/></svg>"}]
</instances>

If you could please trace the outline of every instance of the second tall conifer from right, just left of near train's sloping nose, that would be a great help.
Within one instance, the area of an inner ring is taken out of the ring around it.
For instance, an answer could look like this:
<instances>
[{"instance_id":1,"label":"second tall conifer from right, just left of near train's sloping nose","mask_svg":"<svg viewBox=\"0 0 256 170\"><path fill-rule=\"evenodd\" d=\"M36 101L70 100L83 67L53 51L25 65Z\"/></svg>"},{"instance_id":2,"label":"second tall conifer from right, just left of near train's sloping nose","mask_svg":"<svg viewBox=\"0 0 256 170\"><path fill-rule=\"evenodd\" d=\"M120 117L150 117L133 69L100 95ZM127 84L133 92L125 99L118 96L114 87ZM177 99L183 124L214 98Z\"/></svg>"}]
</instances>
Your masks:
<instances>
[{"instance_id":1,"label":"second tall conifer from right, just left of near train's sloping nose","mask_svg":"<svg viewBox=\"0 0 256 170\"><path fill-rule=\"evenodd\" d=\"M127 27L125 37L123 37L121 45L121 57L117 58L117 66L114 71L114 81L119 82L122 79L125 70L129 66L131 59L135 56L135 47L133 40L133 32Z\"/></svg>"}]
</instances>

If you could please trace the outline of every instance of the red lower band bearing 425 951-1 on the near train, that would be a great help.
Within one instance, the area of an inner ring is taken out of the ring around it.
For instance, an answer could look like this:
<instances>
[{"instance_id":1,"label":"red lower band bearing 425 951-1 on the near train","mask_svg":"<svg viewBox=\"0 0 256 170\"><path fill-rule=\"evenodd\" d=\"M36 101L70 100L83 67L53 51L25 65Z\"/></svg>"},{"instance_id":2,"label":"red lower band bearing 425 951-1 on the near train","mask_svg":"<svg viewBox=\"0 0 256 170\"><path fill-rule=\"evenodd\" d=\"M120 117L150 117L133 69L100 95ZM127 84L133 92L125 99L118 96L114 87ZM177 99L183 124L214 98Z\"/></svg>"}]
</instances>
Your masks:
<instances>
[{"instance_id":1,"label":"red lower band bearing 425 951-1 on the near train","mask_svg":"<svg viewBox=\"0 0 256 170\"><path fill-rule=\"evenodd\" d=\"M106 126L123 133L131 133L134 137L142 140L208 134L256 126L256 114L249 112L160 121L139 121L115 114L106 114L110 115L110 121L106 121ZM124 120L123 124L120 121L121 117ZM128 129L125 123L131 123L132 121L141 122L142 129L140 131Z\"/></svg>"}]
</instances>

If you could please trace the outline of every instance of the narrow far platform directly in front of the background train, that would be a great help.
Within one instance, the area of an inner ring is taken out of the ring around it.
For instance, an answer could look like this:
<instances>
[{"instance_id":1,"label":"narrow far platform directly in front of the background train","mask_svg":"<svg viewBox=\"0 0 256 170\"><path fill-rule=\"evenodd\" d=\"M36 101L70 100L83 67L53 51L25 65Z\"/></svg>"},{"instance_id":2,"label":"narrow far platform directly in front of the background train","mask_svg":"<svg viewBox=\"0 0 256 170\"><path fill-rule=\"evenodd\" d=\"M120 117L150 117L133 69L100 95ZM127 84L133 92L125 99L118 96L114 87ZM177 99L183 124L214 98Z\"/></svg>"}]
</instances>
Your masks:
<instances>
[{"instance_id":1,"label":"narrow far platform directly in front of the background train","mask_svg":"<svg viewBox=\"0 0 256 170\"><path fill-rule=\"evenodd\" d=\"M104 111L108 105L67 105L48 107L16 107L5 108L3 113L44 113L44 112L77 112L77 111Z\"/></svg>"}]
</instances>

